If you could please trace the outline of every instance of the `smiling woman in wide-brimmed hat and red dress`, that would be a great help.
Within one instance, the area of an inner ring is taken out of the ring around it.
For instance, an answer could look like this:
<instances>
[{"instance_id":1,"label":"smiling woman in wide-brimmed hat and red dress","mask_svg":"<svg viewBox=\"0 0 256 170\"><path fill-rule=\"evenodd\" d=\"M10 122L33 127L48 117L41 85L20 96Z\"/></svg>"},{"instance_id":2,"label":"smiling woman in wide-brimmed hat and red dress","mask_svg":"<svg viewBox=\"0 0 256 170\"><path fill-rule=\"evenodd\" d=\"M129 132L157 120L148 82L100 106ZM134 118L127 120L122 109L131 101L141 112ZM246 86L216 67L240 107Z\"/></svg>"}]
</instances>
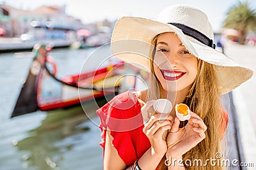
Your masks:
<instances>
[{"instance_id":1,"label":"smiling woman in wide-brimmed hat and red dress","mask_svg":"<svg viewBox=\"0 0 256 170\"><path fill-rule=\"evenodd\" d=\"M104 169L223 168L207 164L222 151L227 127L220 95L248 80L253 71L214 50L212 39L207 15L191 6L170 6L158 21L123 17L116 22L111 52L146 69L150 80L147 90L125 92L97 110ZM172 109L163 119L152 111L159 98L173 106L187 104L191 118L181 122ZM187 161L196 159L203 165Z\"/></svg>"}]
</instances>

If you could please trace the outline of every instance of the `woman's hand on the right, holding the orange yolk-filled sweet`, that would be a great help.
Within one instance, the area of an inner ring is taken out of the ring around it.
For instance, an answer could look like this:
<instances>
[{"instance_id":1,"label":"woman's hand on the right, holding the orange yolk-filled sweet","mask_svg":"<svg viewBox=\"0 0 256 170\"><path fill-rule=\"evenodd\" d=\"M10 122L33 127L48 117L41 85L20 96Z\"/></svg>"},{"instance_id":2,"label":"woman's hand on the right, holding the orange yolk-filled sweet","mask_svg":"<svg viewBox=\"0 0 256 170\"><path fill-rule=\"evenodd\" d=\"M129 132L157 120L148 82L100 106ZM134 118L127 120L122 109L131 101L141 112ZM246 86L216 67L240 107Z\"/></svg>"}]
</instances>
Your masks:
<instances>
[{"instance_id":1,"label":"woman's hand on the right, holding the orange yolk-filled sweet","mask_svg":"<svg viewBox=\"0 0 256 170\"><path fill-rule=\"evenodd\" d=\"M205 138L206 125L196 113L192 111L190 113L191 118L185 127L179 128L180 120L177 117L175 118L172 129L168 132L166 138L168 146L166 156L180 158Z\"/></svg>"}]
</instances>

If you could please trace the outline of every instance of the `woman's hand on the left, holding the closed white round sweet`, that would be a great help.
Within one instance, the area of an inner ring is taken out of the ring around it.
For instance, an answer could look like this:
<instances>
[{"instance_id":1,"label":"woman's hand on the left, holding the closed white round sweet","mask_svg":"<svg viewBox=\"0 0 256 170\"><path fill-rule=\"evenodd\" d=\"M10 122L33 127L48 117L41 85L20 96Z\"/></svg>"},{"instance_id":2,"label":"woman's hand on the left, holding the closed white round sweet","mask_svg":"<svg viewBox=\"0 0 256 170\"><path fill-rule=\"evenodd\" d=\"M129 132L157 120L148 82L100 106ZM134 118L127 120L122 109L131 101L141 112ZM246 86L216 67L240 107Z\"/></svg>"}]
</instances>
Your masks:
<instances>
[{"instance_id":1,"label":"woman's hand on the left, holding the closed white round sweet","mask_svg":"<svg viewBox=\"0 0 256 170\"><path fill-rule=\"evenodd\" d=\"M153 102L145 104L143 108L141 108L141 113L147 113L153 104ZM152 155L164 155L167 151L166 136L168 134L168 130L172 127L172 117L168 116L163 118L161 115L162 114L159 113L154 114L150 117L148 122L145 123L145 127L143 128L143 132L150 141Z\"/></svg>"}]
</instances>

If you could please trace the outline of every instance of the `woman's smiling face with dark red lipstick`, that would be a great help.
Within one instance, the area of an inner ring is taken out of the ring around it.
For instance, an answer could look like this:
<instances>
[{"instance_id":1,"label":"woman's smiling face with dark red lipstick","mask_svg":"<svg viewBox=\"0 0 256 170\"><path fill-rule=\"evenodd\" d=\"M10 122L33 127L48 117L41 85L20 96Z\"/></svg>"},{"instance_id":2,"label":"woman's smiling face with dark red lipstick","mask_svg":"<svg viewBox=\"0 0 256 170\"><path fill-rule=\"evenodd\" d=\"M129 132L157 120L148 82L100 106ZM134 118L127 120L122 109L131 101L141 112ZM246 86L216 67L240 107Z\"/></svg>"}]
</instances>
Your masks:
<instances>
[{"instance_id":1,"label":"woman's smiling face with dark red lipstick","mask_svg":"<svg viewBox=\"0 0 256 170\"><path fill-rule=\"evenodd\" d=\"M154 71L164 90L188 90L196 78L197 59L177 35L166 32L157 38Z\"/></svg>"}]
</instances>

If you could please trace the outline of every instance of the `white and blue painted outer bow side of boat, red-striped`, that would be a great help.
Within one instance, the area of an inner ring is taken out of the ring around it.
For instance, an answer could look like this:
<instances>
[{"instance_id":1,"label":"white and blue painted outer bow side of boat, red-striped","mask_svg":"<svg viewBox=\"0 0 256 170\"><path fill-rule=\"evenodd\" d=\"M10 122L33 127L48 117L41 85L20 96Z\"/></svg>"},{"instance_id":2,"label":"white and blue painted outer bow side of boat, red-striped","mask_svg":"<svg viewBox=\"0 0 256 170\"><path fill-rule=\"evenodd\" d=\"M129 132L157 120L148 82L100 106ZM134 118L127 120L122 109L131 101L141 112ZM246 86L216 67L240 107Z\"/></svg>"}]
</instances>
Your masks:
<instances>
[{"instance_id":1,"label":"white and blue painted outer bow side of boat, red-striped","mask_svg":"<svg viewBox=\"0 0 256 170\"><path fill-rule=\"evenodd\" d=\"M38 79L36 101L42 111L65 108L80 104L84 101L108 96L113 92L103 92L92 89L79 89L60 83L43 71Z\"/></svg>"}]
</instances>

